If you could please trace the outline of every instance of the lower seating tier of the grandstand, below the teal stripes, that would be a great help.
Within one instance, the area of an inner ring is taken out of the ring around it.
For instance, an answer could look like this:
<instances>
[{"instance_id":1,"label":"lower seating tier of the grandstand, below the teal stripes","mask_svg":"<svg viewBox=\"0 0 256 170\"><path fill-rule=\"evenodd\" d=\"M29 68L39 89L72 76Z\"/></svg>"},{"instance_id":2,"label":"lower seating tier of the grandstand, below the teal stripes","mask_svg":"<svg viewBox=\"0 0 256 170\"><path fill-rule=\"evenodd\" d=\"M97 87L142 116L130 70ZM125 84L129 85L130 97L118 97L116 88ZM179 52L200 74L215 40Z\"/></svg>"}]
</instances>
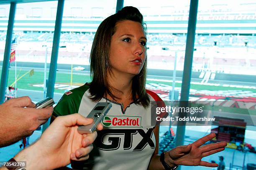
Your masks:
<instances>
[{"instance_id":1,"label":"lower seating tier of the grandstand, below the teal stripes","mask_svg":"<svg viewBox=\"0 0 256 170\"><path fill-rule=\"evenodd\" d=\"M4 33L0 37L4 37ZM18 47L17 60L44 62L45 48L42 45L48 44L53 39L51 32L15 32ZM73 60L74 64L87 65L89 62L90 48L94 33L72 33L64 32L61 34L60 43L66 45L67 48L61 49L59 52L59 63L66 63L66 59ZM202 40L203 37L203 40ZM232 37L232 41L230 40ZM173 34L151 34L148 33L148 61L149 68L172 70L175 60L175 50L185 49L186 35ZM234 40L235 39L235 40ZM214 41L218 42L214 45ZM235 41L236 43L232 43ZM244 42L249 42L247 46ZM152 42L152 43L151 43ZM4 43L2 41L2 43ZM250 70L255 70L256 65L256 38L249 35L197 35L194 52L193 69L212 70L212 72L225 72L234 74L255 74ZM0 53L3 54L4 45L0 47ZM164 47L169 50L162 50ZM50 52L50 50L49 50ZM49 53L48 52L48 53ZM183 70L184 51L178 52L177 70ZM246 55L246 57L244 56ZM41 56L41 57L40 57ZM3 58L3 55L1 56ZM38 60L41 58L42 60ZM61 58L66 58L62 60ZM75 58L84 58L86 62L81 63ZM154 63L159 63L157 64ZM165 63L166 66L163 66ZM238 70L240 68L242 72Z\"/></svg>"}]
</instances>

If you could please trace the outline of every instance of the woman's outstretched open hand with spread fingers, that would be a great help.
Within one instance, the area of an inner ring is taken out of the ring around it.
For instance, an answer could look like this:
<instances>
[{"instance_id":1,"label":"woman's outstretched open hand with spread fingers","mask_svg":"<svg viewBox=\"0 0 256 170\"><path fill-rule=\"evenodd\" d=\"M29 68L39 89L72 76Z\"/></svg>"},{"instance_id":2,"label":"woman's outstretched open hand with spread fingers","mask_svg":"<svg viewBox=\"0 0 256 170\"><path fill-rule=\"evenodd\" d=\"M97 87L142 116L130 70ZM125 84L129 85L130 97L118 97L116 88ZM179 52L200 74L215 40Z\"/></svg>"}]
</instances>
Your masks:
<instances>
[{"instance_id":1,"label":"woman's outstretched open hand with spread fingers","mask_svg":"<svg viewBox=\"0 0 256 170\"><path fill-rule=\"evenodd\" d=\"M168 162L176 165L218 167L217 163L202 161L203 157L223 151L225 146L227 146L226 142L211 143L202 146L214 137L215 133L211 133L192 144L178 146L169 150L167 153L169 153L171 160L168 159Z\"/></svg>"}]
</instances>

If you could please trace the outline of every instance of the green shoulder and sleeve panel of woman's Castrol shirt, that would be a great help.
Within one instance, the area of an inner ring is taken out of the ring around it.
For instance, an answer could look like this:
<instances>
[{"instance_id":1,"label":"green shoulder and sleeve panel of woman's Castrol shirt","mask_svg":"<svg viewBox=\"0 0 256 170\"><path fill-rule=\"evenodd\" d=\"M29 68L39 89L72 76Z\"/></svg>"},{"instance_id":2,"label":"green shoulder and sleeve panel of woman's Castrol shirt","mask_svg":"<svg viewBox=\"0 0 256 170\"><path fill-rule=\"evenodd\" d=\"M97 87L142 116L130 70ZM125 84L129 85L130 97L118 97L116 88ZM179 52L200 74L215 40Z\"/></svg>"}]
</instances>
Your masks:
<instances>
[{"instance_id":1,"label":"green shoulder and sleeve panel of woman's Castrol shirt","mask_svg":"<svg viewBox=\"0 0 256 170\"><path fill-rule=\"evenodd\" d=\"M89 89L89 85L74 88L64 95L54 107L54 116L64 116L77 113L84 93ZM70 93L71 92L71 93Z\"/></svg>"}]
</instances>

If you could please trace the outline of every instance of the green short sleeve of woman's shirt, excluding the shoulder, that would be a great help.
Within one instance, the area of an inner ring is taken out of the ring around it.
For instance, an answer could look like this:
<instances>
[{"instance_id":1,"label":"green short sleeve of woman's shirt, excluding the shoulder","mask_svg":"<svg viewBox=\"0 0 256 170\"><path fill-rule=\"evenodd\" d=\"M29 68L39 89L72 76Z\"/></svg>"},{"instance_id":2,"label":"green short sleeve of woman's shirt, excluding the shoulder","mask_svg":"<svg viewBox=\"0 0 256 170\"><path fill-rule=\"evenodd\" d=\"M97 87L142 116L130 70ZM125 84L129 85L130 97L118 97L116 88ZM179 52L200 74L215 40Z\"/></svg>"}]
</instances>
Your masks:
<instances>
[{"instance_id":1,"label":"green short sleeve of woman's shirt, excluding the shoulder","mask_svg":"<svg viewBox=\"0 0 256 170\"><path fill-rule=\"evenodd\" d=\"M71 115L78 112L75 107L75 102L69 95L64 94L59 100L58 104L54 107L53 115L54 116L64 116Z\"/></svg>"}]
</instances>

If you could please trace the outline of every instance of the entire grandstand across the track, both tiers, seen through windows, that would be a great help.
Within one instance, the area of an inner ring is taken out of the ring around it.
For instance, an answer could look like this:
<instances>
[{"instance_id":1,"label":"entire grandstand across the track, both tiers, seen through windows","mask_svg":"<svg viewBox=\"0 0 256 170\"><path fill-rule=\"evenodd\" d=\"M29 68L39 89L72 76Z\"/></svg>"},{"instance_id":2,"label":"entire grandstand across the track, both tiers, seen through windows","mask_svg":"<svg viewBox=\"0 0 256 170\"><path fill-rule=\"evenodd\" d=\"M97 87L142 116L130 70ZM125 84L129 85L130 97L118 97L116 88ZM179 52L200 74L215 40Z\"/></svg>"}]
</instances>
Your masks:
<instances>
[{"instance_id":1,"label":"entire grandstand across the track, both tiers, seen through windows","mask_svg":"<svg viewBox=\"0 0 256 170\"><path fill-rule=\"evenodd\" d=\"M60 43L66 48L59 51L58 62L87 65L95 31L105 17L115 13L115 8L74 2L65 2ZM167 2L159 5L150 3L138 4L148 28L148 68L173 70L175 50L179 50L177 70L183 70L189 5L186 1L172 6ZM232 5L220 0L200 2L193 59L195 72L256 74L255 9L253 0L235 0ZM8 10L8 5L0 10L1 44L5 42ZM85 13L84 10L90 12ZM14 24L18 61L44 62L46 49L42 46L51 46L55 13L56 2L19 4ZM0 59L3 58L3 50L4 45L1 45Z\"/></svg>"}]
</instances>

